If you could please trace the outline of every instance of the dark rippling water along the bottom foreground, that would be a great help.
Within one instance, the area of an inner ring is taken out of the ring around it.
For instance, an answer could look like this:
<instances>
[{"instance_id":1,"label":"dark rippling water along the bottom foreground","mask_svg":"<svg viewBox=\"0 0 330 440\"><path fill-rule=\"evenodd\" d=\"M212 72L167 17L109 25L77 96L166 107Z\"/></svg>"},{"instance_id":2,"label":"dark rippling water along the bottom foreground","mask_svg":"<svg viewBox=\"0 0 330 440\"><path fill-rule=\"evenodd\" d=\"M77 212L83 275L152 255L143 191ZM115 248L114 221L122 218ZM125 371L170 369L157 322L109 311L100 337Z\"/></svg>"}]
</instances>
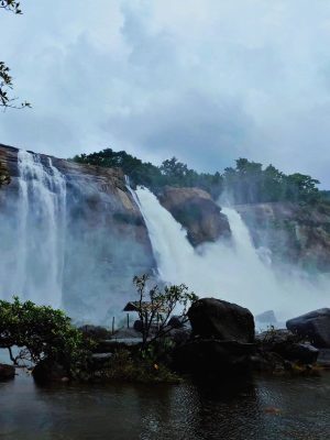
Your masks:
<instances>
[{"instance_id":1,"label":"dark rippling water along the bottom foreground","mask_svg":"<svg viewBox=\"0 0 330 440\"><path fill-rule=\"evenodd\" d=\"M330 375L176 386L0 383L0 439L327 439Z\"/></svg>"}]
</instances>

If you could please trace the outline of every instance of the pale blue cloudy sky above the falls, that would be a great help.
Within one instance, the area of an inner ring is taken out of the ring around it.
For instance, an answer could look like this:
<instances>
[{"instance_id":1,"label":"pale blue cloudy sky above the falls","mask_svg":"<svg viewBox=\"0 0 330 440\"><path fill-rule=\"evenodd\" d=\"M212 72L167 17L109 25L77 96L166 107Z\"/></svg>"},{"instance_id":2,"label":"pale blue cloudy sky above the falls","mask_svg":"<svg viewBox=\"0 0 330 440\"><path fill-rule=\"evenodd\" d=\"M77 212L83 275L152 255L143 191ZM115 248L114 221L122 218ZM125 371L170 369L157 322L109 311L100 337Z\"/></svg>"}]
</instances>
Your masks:
<instances>
[{"instance_id":1,"label":"pale blue cloudy sky above the falls","mask_svg":"<svg viewBox=\"0 0 330 440\"><path fill-rule=\"evenodd\" d=\"M32 109L0 143L105 147L198 170L238 157L330 188L329 0L33 0L0 11L0 59Z\"/></svg>"}]
</instances>

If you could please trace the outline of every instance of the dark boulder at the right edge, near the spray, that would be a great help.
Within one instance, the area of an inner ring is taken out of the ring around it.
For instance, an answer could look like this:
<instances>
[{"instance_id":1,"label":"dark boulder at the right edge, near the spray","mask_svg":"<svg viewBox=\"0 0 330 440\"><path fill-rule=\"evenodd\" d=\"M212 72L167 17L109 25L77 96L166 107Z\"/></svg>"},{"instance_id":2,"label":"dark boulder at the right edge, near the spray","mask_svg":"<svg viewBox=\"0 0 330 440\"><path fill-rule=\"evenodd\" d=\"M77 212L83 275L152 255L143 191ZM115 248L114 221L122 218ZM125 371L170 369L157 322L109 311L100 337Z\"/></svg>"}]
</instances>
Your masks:
<instances>
[{"instance_id":1,"label":"dark boulder at the right edge, near the spray","mask_svg":"<svg viewBox=\"0 0 330 440\"><path fill-rule=\"evenodd\" d=\"M323 308L289 319L286 327L318 348L330 348L330 309Z\"/></svg>"}]
</instances>

